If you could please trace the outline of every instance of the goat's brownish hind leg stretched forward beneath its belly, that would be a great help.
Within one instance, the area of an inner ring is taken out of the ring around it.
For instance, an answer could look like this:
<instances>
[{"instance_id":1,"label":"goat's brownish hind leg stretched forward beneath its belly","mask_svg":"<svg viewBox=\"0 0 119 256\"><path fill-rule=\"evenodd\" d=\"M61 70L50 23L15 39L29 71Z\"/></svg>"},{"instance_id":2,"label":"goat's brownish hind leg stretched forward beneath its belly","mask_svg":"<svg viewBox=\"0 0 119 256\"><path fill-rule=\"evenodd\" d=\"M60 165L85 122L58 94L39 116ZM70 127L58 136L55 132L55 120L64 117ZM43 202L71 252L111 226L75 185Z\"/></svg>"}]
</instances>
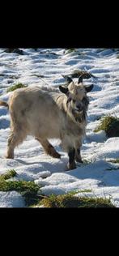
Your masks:
<instances>
[{"instance_id":1,"label":"goat's brownish hind leg stretched forward beneath its belly","mask_svg":"<svg viewBox=\"0 0 119 256\"><path fill-rule=\"evenodd\" d=\"M40 139L40 138L36 137L36 140L38 140L40 142L40 144L44 148L45 153L47 155L52 156L54 158L60 158L61 157L61 155L59 153L57 153L55 148L49 143L49 141L47 139Z\"/></svg>"}]
</instances>

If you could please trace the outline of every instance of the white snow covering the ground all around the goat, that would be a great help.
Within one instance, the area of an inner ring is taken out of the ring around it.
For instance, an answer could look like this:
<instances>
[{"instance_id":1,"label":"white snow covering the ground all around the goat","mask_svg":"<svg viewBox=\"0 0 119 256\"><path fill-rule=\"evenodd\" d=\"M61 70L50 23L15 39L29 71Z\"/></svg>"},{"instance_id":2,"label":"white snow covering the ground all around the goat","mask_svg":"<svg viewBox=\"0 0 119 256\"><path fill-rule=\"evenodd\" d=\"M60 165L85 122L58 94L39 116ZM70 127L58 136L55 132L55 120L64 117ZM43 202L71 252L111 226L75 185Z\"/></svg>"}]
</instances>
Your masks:
<instances>
[{"instance_id":1,"label":"white snow covering the ground all around the goat","mask_svg":"<svg viewBox=\"0 0 119 256\"><path fill-rule=\"evenodd\" d=\"M0 49L0 100L8 100L12 92L7 93L6 89L15 83L25 83L29 87L43 87L48 83L57 88L66 82L62 75L73 70L86 69L96 75L97 79L84 79L84 83L94 83L88 94L87 136L82 147L85 164L65 171L68 157L60 148L60 141L52 140L53 146L62 154L58 160L46 156L40 144L30 136L15 149L15 159L6 160L10 115L6 108L1 107L0 174L15 169L19 180L35 181L44 194L91 190L78 195L111 198L119 207L119 164L108 162L119 158L119 138L107 139L104 131L94 132L100 117L106 114L119 117L119 58L116 51L77 49L67 53L65 49L23 49L23 53L5 53ZM25 207L25 203L15 191L0 191L0 207Z\"/></svg>"}]
</instances>

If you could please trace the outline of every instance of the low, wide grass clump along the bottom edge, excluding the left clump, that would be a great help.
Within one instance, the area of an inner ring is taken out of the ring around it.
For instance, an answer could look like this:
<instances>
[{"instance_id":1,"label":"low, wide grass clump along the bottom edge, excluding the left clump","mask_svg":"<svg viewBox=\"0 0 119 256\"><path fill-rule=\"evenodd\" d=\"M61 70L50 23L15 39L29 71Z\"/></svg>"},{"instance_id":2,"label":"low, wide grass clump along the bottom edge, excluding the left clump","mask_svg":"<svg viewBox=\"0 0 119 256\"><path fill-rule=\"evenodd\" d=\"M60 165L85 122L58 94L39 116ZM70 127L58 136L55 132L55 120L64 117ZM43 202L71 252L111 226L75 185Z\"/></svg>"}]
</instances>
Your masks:
<instances>
[{"instance_id":1,"label":"low, wide grass clump along the bottom edge, excluding the left clump","mask_svg":"<svg viewBox=\"0 0 119 256\"><path fill-rule=\"evenodd\" d=\"M87 197L76 197L73 194L62 194L54 195L51 194L49 197L45 197L40 200L37 206L43 205L44 207L114 207L110 202L110 199L105 198L87 198Z\"/></svg>"}]
</instances>

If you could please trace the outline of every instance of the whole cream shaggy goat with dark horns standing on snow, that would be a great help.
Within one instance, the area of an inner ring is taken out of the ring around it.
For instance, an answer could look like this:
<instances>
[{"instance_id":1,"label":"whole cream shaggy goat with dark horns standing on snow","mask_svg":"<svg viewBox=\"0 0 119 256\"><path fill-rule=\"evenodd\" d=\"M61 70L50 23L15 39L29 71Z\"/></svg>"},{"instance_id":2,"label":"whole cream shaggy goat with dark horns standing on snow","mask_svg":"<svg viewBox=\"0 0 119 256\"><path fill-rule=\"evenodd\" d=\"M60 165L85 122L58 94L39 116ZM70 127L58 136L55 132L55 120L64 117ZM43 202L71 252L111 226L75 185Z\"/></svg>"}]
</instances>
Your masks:
<instances>
[{"instance_id":1,"label":"whole cream shaggy goat with dark horns standing on snow","mask_svg":"<svg viewBox=\"0 0 119 256\"><path fill-rule=\"evenodd\" d=\"M75 160L82 162L80 147L87 125L87 92L93 85L85 87L81 78L78 83L67 80L68 87L59 87L61 92L47 92L40 87L20 88L13 92L8 104L0 101L11 113L6 158L14 158L15 147L30 134L40 142L46 154L56 158L60 158L60 154L48 139L61 139L62 148L69 156L68 169L76 168Z\"/></svg>"}]
</instances>

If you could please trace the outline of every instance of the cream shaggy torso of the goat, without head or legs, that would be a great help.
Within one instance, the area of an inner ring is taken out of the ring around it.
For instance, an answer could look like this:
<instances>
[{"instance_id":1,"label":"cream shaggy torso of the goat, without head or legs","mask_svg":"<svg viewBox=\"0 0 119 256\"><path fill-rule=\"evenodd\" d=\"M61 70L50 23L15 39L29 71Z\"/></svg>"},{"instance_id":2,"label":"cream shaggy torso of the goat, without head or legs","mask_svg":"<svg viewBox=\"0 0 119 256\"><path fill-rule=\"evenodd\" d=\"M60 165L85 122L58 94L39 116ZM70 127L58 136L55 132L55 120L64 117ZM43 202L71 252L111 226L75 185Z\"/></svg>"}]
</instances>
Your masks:
<instances>
[{"instance_id":1,"label":"cream shaggy torso of the goat, without head or legs","mask_svg":"<svg viewBox=\"0 0 119 256\"><path fill-rule=\"evenodd\" d=\"M62 139L68 134L71 141L85 133L86 123L79 125L67 115L66 96L61 93L38 87L18 89L9 100L9 110L11 130L22 130L41 139Z\"/></svg>"}]
</instances>

